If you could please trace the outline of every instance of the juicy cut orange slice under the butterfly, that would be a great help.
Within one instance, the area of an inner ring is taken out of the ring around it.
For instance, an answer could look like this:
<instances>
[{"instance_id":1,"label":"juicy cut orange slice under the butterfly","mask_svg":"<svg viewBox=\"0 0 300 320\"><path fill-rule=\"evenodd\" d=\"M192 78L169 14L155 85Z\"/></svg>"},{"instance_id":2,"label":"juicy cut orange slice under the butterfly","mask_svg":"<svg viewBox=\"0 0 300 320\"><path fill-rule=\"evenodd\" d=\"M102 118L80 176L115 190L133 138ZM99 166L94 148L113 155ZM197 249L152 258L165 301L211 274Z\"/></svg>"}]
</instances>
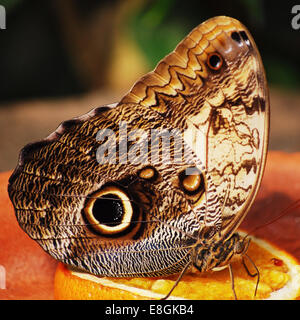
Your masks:
<instances>
[{"instance_id":1,"label":"juicy cut orange slice under the butterfly","mask_svg":"<svg viewBox=\"0 0 300 320\"><path fill-rule=\"evenodd\" d=\"M252 238L247 254L259 269L260 281L250 276L239 261L232 264L238 299L297 299L300 297L300 266L290 254L269 242ZM252 273L255 269L247 263ZM170 291L178 275L161 278L107 278L74 270L59 263L54 296L63 300L161 299ZM184 275L169 299L234 299L228 269Z\"/></svg>"}]
</instances>

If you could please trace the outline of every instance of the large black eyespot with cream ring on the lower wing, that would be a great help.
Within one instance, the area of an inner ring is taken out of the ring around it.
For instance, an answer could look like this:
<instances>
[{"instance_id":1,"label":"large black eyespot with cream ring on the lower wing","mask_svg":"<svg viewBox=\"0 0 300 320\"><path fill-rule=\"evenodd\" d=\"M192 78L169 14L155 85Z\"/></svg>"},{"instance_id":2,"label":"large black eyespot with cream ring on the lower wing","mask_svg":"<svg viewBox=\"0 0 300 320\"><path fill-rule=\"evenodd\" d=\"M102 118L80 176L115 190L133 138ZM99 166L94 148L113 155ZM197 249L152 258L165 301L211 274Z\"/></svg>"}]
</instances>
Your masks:
<instances>
[{"instance_id":1,"label":"large black eyespot with cream ring on the lower wing","mask_svg":"<svg viewBox=\"0 0 300 320\"><path fill-rule=\"evenodd\" d=\"M84 207L84 216L94 231L114 236L129 229L134 210L123 190L108 186L90 196Z\"/></svg>"}]
</instances>

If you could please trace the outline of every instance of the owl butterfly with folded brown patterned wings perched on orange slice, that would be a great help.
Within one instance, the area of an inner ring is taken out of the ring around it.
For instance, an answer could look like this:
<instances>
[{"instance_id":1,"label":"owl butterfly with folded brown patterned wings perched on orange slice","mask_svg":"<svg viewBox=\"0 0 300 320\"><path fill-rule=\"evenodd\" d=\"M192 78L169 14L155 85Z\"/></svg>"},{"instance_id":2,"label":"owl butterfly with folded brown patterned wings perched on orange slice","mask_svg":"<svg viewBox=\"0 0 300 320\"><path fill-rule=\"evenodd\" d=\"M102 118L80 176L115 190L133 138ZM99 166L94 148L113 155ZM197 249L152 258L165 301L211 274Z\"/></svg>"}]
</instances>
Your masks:
<instances>
[{"instance_id":1,"label":"owl butterfly with folded brown patterned wings perched on orange slice","mask_svg":"<svg viewBox=\"0 0 300 320\"><path fill-rule=\"evenodd\" d=\"M95 275L230 266L246 250L235 231L261 182L268 127L253 38L215 17L119 103L25 146L10 199L46 252Z\"/></svg>"}]
</instances>

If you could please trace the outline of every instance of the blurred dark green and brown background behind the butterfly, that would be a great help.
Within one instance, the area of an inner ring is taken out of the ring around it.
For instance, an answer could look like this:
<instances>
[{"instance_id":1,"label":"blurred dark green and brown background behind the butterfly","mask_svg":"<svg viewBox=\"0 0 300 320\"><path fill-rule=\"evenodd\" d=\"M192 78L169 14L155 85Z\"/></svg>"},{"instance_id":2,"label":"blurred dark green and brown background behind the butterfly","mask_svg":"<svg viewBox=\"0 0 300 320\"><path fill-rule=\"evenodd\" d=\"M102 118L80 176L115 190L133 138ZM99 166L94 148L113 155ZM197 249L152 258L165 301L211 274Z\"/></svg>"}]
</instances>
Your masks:
<instances>
[{"instance_id":1,"label":"blurred dark green and brown background behind the butterfly","mask_svg":"<svg viewBox=\"0 0 300 320\"><path fill-rule=\"evenodd\" d=\"M243 22L271 88L272 149L300 151L300 30L294 1L0 0L0 171L59 122L118 101L191 29L216 15Z\"/></svg>"}]
</instances>

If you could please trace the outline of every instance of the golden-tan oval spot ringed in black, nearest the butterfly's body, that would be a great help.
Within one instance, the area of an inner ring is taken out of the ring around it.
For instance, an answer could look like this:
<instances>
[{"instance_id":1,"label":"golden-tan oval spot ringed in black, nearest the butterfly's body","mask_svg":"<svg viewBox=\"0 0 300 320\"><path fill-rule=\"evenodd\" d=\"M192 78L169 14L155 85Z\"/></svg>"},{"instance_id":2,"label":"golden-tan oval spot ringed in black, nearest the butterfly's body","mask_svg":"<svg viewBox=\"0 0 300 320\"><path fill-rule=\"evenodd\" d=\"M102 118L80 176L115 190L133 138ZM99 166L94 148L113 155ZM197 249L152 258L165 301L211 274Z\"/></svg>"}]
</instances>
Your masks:
<instances>
[{"instance_id":1,"label":"golden-tan oval spot ringed in black, nearest the butterfly's body","mask_svg":"<svg viewBox=\"0 0 300 320\"><path fill-rule=\"evenodd\" d=\"M181 188L188 195L203 193L205 188L202 172L196 168L187 168L179 174Z\"/></svg>"}]
</instances>

